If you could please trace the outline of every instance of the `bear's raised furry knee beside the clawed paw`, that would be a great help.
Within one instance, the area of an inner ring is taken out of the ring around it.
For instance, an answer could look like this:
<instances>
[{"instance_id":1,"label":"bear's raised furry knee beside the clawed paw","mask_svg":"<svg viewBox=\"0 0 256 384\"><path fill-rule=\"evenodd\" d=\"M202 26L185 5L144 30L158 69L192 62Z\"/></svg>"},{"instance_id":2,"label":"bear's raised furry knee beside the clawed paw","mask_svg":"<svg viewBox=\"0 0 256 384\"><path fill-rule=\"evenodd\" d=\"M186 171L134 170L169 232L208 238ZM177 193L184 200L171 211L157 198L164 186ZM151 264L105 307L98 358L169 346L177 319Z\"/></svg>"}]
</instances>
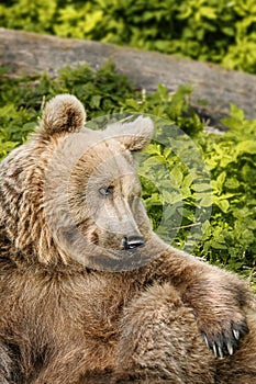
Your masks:
<instances>
[{"instance_id":1,"label":"bear's raised furry knee beside the clawed paw","mask_svg":"<svg viewBox=\"0 0 256 384\"><path fill-rule=\"evenodd\" d=\"M114 383L213 384L214 363L175 289L153 285L126 308Z\"/></svg>"}]
</instances>

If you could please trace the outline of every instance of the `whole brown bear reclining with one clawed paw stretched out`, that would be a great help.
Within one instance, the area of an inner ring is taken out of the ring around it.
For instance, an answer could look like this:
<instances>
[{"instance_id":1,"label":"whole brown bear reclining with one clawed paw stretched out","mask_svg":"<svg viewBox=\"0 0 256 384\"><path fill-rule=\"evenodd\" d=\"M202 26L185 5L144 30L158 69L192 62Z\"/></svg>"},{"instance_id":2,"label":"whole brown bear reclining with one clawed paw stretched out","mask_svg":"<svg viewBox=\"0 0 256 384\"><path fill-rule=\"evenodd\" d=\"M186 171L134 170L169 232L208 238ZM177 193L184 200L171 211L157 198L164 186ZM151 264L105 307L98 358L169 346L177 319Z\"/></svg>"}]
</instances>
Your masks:
<instances>
[{"instance_id":1,"label":"whole brown bear reclining with one clawed paw stretched out","mask_svg":"<svg viewBox=\"0 0 256 384\"><path fill-rule=\"evenodd\" d=\"M54 98L0 166L0 383L256 383L246 284L152 230L133 159L151 118L85 120Z\"/></svg>"}]
</instances>

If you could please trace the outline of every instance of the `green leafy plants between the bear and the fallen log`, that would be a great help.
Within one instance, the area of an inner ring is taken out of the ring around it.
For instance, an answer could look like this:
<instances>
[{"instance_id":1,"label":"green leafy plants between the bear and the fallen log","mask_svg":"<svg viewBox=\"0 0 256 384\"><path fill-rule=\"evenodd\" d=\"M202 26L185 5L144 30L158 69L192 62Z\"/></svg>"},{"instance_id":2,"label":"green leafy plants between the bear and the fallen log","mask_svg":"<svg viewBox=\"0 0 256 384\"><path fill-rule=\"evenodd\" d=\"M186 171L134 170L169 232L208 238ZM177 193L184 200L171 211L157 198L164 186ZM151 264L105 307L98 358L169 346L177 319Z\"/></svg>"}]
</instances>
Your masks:
<instances>
[{"instance_id":1,"label":"green leafy plants between the bear and the fallen log","mask_svg":"<svg viewBox=\"0 0 256 384\"><path fill-rule=\"evenodd\" d=\"M114 113L115 118L127 112L151 114L156 135L140 158L138 171L155 230L174 246L256 284L256 121L246 121L232 105L230 117L222 122L229 131L208 134L189 105L189 87L169 94L159 86L145 94L118 75L111 63L98 71L66 68L54 80L45 75L22 79L7 75L0 75L1 158L26 139L42 106L57 93L76 94L88 120L100 124ZM97 127L93 122L88 124Z\"/></svg>"}]
</instances>

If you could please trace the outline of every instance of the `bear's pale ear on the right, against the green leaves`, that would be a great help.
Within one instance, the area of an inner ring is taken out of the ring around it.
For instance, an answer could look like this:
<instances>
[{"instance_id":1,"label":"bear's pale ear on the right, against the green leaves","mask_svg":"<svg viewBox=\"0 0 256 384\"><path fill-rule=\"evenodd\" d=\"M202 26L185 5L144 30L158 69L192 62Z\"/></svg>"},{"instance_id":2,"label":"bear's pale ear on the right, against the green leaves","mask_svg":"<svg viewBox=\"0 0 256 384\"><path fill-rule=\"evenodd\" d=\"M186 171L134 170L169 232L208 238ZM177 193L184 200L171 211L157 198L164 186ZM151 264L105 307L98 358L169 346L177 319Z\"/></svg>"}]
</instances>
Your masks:
<instances>
[{"instance_id":1,"label":"bear's pale ear on the right, against the green leaves","mask_svg":"<svg viewBox=\"0 0 256 384\"><path fill-rule=\"evenodd\" d=\"M108 137L115 138L131 151L142 150L149 143L154 134L154 124L151 117L138 116L133 122L125 120L108 125Z\"/></svg>"}]
</instances>

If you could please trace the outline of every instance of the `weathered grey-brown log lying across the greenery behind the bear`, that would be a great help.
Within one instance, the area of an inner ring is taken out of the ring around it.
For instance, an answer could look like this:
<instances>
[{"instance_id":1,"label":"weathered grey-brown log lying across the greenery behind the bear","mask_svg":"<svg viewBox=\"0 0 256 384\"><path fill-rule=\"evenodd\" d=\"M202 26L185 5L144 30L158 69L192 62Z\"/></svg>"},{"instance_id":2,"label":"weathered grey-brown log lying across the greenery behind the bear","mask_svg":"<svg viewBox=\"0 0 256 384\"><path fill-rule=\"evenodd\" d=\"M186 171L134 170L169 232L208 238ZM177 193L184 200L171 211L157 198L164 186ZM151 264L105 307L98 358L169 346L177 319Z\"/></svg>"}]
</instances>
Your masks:
<instances>
[{"instance_id":1,"label":"weathered grey-brown log lying across the greenery behind the bear","mask_svg":"<svg viewBox=\"0 0 256 384\"><path fill-rule=\"evenodd\" d=\"M245 111L247 118L256 118L254 75L155 52L0 29L0 66L9 67L11 76L44 71L54 77L67 65L89 64L97 69L108 59L147 92L158 83L170 92L180 84L191 84L192 105L202 115L220 118L234 103ZM202 106L200 100L207 105Z\"/></svg>"}]
</instances>

